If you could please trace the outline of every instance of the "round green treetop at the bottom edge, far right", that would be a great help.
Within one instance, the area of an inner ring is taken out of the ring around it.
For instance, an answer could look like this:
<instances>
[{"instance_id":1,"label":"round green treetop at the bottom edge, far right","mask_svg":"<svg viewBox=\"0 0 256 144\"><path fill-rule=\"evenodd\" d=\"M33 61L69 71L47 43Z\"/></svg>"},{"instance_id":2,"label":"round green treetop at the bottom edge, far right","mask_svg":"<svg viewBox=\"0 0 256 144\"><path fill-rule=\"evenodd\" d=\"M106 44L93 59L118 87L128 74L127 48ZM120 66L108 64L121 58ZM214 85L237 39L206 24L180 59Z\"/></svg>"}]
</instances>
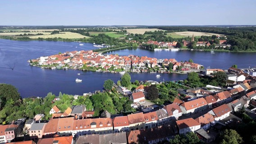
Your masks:
<instances>
[{"instance_id":1,"label":"round green treetop at the bottom edge, far right","mask_svg":"<svg viewBox=\"0 0 256 144\"><path fill-rule=\"evenodd\" d=\"M220 135L221 141L220 144L241 144L242 137L237 133L236 130L224 130Z\"/></svg>"}]
</instances>

